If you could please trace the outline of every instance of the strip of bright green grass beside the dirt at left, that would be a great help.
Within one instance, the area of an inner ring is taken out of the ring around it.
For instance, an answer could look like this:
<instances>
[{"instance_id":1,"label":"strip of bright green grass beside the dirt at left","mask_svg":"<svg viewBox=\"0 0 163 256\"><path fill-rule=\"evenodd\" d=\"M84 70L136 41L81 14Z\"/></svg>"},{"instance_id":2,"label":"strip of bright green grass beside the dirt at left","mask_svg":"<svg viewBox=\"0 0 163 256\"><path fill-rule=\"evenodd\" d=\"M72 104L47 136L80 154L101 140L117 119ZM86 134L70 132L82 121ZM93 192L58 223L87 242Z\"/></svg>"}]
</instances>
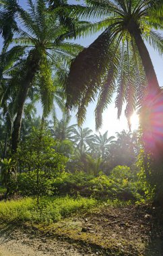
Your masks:
<instances>
[{"instance_id":1,"label":"strip of bright green grass beside the dirt at left","mask_svg":"<svg viewBox=\"0 0 163 256\"><path fill-rule=\"evenodd\" d=\"M96 199L84 197L43 197L40 204L36 199L26 197L20 200L0 202L1 222L30 221L51 223L78 211L86 211L97 204Z\"/></svg>"}]
</instances>

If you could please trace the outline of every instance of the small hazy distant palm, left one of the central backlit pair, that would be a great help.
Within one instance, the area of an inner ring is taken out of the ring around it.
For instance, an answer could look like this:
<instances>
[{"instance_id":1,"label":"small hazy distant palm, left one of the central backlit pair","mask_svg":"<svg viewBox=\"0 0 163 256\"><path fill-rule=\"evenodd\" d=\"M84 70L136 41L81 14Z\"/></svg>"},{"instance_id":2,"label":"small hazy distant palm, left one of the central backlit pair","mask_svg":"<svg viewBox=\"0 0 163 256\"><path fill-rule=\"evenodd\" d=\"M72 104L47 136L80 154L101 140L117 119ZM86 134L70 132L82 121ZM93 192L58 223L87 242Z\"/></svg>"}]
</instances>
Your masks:
<instances>
[{"instance_id":1,"label":"small hazy distant palm, left one of the central backlit pair","mask_svg":"<svg viewBox=\"0 0 163 256\"><path fill-rule=\"evenodd\" d=\"M74 135L71 136L71 139L75 142L77 149L79 150L81 156L84 154L89 146L91 141L94 141L94 135L92 135L92 130L88 127L78 129L73 129Z\"/></svg>"}]
</instances>

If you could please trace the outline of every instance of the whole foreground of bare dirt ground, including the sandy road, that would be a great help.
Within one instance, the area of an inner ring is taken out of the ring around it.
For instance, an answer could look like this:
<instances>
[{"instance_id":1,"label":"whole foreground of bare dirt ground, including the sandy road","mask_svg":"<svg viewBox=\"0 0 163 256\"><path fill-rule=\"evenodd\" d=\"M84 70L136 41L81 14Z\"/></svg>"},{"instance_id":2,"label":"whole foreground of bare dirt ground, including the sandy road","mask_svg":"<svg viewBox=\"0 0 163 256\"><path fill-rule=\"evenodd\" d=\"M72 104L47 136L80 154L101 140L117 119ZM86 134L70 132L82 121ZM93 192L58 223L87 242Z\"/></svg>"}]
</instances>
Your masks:
<instances>
[{"instance_id":1,"label":"whole foreground of bare dirt ground, including the sandy road","mask_svg":"<svg viewBox=\"0 0 163 256\"><path fill-rule=\"evenodd\" d=\"M49 226L1 224L0 256L163 256L162 214L150 205L102 207Z\"/></svg>"}]
</instances>

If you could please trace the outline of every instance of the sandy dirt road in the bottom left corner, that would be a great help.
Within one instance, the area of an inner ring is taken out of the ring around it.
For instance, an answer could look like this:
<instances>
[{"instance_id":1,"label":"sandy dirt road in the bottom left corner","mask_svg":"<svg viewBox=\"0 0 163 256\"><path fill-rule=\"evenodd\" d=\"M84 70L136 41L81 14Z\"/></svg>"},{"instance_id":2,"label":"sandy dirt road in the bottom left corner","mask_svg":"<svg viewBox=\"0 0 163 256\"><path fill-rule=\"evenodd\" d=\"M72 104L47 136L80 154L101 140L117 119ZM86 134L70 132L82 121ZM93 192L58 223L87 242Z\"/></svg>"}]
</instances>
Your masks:
<instances>
[{"instance_id":1,"label":"sandy dirt road in the bottom left corner","mask_svg":"<svg viewBox=\"0 0 163 256\"><path fill-rule=\"evenodd\" d=\"M98 252L97 252L98 254ZM89 248L59 241L57 238L41 238L19 228L5 226L0 231L0 256L94 256Z\"/></svg>"}]
</instances>

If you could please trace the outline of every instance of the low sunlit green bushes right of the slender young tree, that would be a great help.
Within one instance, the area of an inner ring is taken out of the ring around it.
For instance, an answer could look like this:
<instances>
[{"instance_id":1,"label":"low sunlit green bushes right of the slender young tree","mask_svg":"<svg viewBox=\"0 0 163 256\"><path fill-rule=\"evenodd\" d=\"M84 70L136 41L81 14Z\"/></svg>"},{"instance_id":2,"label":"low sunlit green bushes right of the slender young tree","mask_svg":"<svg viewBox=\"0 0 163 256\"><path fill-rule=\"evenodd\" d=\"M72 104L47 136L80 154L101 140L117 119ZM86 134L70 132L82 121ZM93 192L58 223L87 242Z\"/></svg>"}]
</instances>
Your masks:
<instances>
[{"instance_id":1,"label":"low sunlit green bushes right of the slender young tree","mask_svg":"<svg viewBox=\"0 0 163 256\"><path fill-rule=\"evenodd\" d=\"M85 172L74 174L64 173L53 180L54 191L59 195L93 196L96 198L110 198L137 201L143 198L137 172L127 166L115 167L109 176L100 174L98 177Z\"/></svg>"}]
</instances>

